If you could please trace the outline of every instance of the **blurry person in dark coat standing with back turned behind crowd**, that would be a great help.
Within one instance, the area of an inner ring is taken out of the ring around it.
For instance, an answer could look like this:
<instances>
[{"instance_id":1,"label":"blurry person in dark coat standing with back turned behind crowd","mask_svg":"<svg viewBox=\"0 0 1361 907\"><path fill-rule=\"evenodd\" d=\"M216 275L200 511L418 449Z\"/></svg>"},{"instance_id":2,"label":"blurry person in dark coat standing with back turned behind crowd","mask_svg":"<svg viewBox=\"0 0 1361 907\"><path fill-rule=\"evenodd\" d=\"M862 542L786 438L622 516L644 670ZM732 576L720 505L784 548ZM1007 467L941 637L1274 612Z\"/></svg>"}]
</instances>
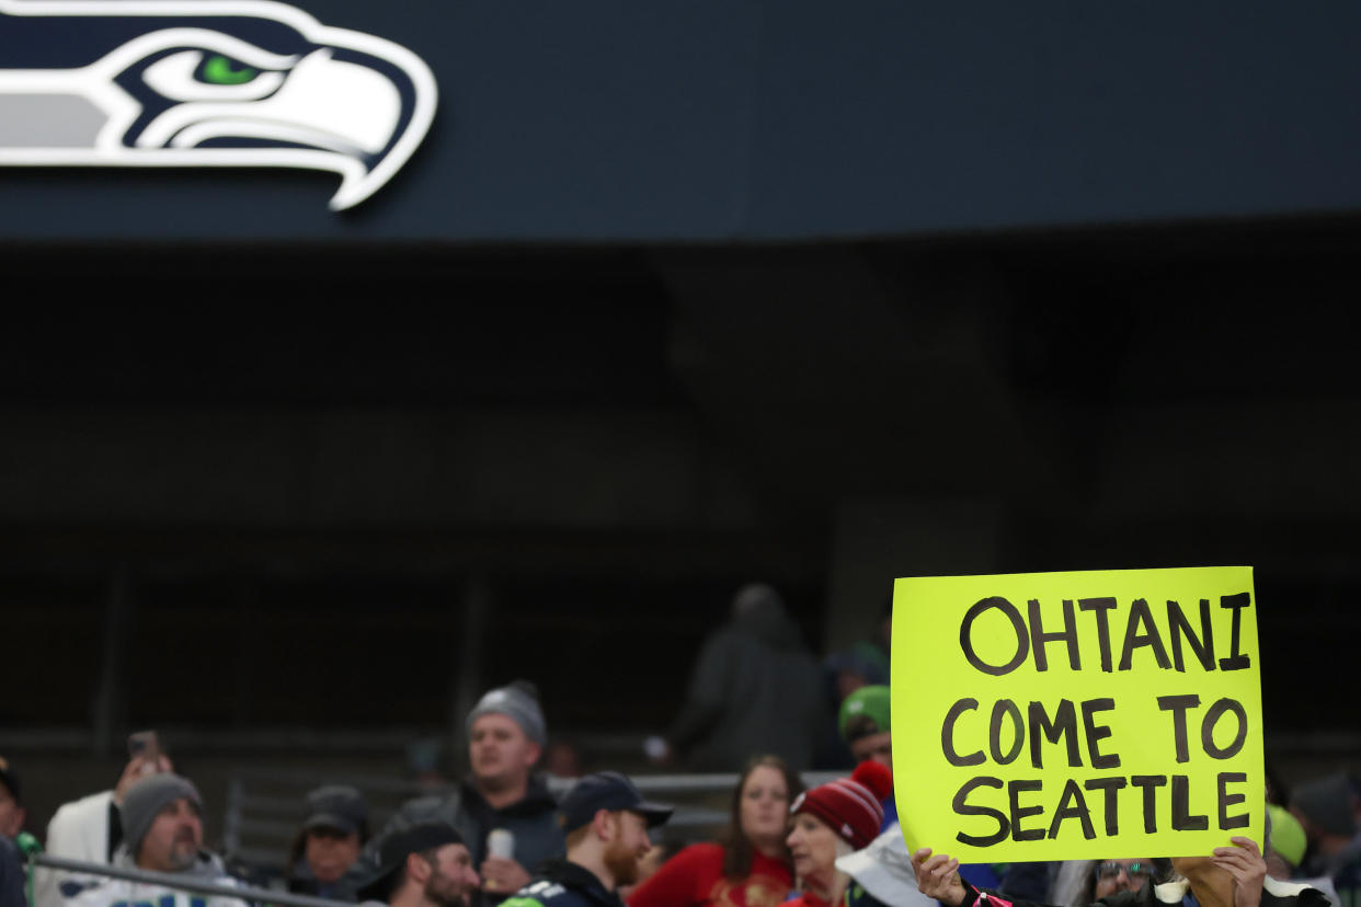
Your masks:
<instances>
[{"instance_id":1,"label":"blurry person in dark coat standing with back turned behind crowd","mask_svg":"<svg viewBox=\"0 0 1361 907\"><path fill-rule=\"evenodd\" d=\"M709 636L690 674L663 757L678 752L695 771L740 771L774 753L793 771L813 766L826 728L822 672L770 586L732 600L732 619Z\"/></svg>"}]
</instances>

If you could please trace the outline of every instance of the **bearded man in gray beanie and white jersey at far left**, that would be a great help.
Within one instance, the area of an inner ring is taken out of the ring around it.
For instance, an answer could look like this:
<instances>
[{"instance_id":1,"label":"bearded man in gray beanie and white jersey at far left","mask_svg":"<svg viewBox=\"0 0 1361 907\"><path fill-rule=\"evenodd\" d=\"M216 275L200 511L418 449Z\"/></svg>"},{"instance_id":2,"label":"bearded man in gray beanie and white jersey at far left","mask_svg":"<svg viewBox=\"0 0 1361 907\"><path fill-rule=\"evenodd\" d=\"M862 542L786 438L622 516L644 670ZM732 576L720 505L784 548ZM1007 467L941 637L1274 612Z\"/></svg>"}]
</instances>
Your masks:
<instances>
[{"instance_id":1,"label":"bearded man in gray beanie and white jersey at far left","mask_svg":"<svg viewBox=\"0 0 1361 907\"><path fill-rule=\"evenodd\" d=\"M122 844L113 865L135 866L161 873L182 873L204 881L235 885L235 880L212 854L203 850L203 800L186 778L161 774L144 778L122 798ZM73 891L71 891L73 888ZM64 883L63 893L72 907L112 907L152 903L162 907L245 907L245 902L133 883L122 878L90 880L82 888ZM193 902L193 903L191 903Z\"/></svg>"}]
</instances>

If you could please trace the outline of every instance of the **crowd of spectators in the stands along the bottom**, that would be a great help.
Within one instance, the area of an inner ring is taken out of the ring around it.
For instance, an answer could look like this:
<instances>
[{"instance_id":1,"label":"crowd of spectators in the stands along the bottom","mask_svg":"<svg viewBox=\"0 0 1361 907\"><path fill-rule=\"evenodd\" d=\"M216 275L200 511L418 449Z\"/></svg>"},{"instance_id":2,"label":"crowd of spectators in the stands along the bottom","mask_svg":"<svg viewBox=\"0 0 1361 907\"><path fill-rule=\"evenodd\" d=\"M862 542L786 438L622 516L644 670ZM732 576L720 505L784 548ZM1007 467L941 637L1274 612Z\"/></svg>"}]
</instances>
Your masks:
<instances>
[{"instance_id":1,"label":"crowd of spectators in the stands along the bottom","mask_svg":"<svg viewBox=\"0 0 1361 907\"><path fill-rule=\"evenodd\" d=\"M26 829L20 767L0 757L0 907L301 906L299 895L392 907L1361 907L1361 786L1346 774L1270 783L1260 849L1234 839L1194 858L965 866L909 855L889 640L886 606L864 642L819 662L773 589L738 593L683 708L645 748L659 766L739 772L715 840L668 834L674 808L617 771L554 795L544 764L574 775L574 753L550 752L524 680L468 713L467 776L381 828L355 787L308 793L274 877L204 847L203 797L154 734L135 736L114 785L64 804L41 842ZM804 787L810 768L848 774ZM29 863L39 850L79 865Z\"/></svg>"}]
</instances>

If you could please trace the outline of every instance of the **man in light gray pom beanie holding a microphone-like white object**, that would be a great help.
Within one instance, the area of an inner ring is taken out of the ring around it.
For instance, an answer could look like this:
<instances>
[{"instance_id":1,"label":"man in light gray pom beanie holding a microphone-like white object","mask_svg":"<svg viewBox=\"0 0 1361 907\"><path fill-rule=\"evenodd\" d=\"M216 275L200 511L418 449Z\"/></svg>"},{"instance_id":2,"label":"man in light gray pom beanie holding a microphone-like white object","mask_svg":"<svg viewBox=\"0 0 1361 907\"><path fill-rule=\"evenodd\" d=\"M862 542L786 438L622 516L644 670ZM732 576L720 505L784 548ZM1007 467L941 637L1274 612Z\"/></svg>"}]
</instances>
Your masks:
<instances>
[{"instance_id":1,"label":"man in light gray pom beanie holding a microphone-like white object","mask_svg":"<svg viewBox=\"0 0 1361 907\"><path fill-rule=\"evenodd\" d=\"M558 804L543 779L534 774L548 738L539 691L516 680L489 691L468 713L471 772L448 795L407 802L370 842L369 861L382 840L396 831L427 821L453 825L467 842L482 877L475 907L495 904L529 881L544 859L566 853L558 827ZM489 843L489 836L495 836Z\"/></svg>"}]
</instances>

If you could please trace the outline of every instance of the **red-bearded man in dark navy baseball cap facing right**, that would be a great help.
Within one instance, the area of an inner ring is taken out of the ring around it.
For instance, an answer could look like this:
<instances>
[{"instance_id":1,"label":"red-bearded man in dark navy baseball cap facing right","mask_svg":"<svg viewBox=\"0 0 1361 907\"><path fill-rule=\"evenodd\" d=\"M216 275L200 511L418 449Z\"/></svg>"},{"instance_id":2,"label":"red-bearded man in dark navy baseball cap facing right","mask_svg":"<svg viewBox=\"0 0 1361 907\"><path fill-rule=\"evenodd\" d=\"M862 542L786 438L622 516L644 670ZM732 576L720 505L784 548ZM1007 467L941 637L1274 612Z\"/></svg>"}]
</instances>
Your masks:
<instances>
[{"instance_id":1,"label":"red-bearded man in dark navy baseball cap facing right","mask_svg":"<svg viewBox=\"0 0 1361 907\"><path fill-rule=\"evenodd\" d=\"M671 806L642 800L619 772L587 775L558 809L568 832L566 859L540 865L536 877L502 907L622 907L617 889L637 881L638 863L652 849L648 829L671 812Z\"/></svg>"}]
</instances>

